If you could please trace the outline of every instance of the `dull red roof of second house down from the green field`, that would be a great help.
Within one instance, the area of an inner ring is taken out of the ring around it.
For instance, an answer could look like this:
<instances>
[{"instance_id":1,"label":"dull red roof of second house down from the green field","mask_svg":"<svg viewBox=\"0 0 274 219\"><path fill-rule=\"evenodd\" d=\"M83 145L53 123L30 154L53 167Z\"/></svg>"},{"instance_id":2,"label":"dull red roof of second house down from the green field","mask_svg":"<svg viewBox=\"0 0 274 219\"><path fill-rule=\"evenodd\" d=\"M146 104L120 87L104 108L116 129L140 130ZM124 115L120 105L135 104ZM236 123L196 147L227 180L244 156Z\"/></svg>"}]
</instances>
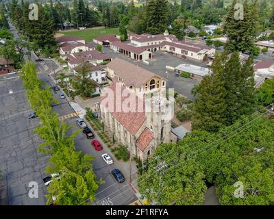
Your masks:
<instances>
[{"instance_id":1,"label":"dull red roof of second house down from the green field","mask_svg":"<svg viewBox=\"0 0 274 219\"><path fill-rule=\"evenodd\" d=\"M91 61L91 60L110 60L110 56L100 53L97 50L84 51L80 53L71 53L66 55L69 59L70 64L78 64L81 62Z\"/></svg>"}]
</instances>

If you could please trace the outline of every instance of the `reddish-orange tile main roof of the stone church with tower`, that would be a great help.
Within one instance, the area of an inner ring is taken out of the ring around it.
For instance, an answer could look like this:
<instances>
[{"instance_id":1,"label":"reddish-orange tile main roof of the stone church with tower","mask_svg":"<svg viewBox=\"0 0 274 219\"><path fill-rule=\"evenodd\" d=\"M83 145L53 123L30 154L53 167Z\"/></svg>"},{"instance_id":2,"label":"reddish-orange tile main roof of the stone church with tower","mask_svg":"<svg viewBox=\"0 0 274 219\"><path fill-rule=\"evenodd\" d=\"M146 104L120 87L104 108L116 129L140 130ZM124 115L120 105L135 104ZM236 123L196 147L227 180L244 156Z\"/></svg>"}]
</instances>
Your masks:
<instances>
[{"instance_id":1,"label":"reddish-orange tile main roof of the stone church with tower","mask_svg":"<svg viewBox=\"0 0 274 219\"><path fill-rule=\"evenodd\" d=\"M110 86L108 88L110 88L113 93L113 103L114 103L114 109L113 112L110 112L112 114L112 116L114 118L116 118L116 120L121 123L121 125L127 130L129 131L130 134L135 135L136 132L140 129L140 127L142 126L143 123L145 123L145 120L147 119L145 116L145 101L143 101L143 109L142 112L138 112L137 111L137 107L138 107L138 103L142 103L142 101L140 101L138 99L138 96L135 95L135 100L136 100L136 109L135 112L125 112L123 110L122 107L122 103L125 99L127 99L127 96L122 96L121 97L121 102L120 103L116 103L116 101L118 102L118 100L116 99L116 86L121 86L121 83L117 82L116 79L113 80L113 82L110 84ZM125 87L121 87L121 92L123 92L123 90L125 90ZM100 97L100 103L102 104L103 99L105 99L108 96L103 96L103 93L105 92L105 90L102 90L102 94ZM117 91L118 92L118 91ZM117 106L119 106L121 108L120 112L118 112L118 108L116 108ZM105 107L108 107L105 106ZM116 110L117 109L117 110ZM116 112L117 111L117 112Z\"/></svg>"}]
</instances>

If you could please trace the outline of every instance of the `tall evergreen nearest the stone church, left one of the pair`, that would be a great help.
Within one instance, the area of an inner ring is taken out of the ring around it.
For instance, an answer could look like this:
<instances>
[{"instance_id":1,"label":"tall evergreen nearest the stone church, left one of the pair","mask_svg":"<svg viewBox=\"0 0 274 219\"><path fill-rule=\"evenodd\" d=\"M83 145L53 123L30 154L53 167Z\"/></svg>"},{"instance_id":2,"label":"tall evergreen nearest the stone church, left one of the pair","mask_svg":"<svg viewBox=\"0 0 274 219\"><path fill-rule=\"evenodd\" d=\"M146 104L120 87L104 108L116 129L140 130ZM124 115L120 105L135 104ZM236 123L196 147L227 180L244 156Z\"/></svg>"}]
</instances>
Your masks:
<instances>
[{"instance_id":1,"label":"tall evergreen nearest the stone church, left one of the pair","mask_svg":"<svg viewBox=\"0 0 274 219\"><path fill-rule=\"evenodd\" d=\"M197 97L193 103L193 129L218 131L225 123L225 81L223 65L225 54L215 58L212 74L203 78L199 86L193 89Z\"/></svg>"}]
</instances>

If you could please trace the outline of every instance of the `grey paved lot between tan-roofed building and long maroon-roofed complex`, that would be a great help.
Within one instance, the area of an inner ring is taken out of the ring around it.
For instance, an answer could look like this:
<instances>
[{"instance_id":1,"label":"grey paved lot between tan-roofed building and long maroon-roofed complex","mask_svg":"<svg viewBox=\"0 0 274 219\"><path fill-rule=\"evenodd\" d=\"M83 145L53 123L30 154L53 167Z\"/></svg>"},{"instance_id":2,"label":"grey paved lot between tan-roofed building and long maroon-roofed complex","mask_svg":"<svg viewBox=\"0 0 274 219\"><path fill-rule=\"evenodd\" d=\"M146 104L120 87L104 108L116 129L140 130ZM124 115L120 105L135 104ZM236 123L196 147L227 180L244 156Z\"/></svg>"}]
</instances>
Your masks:
<instances>
[{"instance_id":1,"label":"grey paved lot between tan-roofed building and long maroon-roofed complex","mask_svg":"<svg viewBox=\"0 0 274 219\"><path fill-rule=\"evenodd\" d=\"M206 67L205 63L201 62L193 62L191 60L184 60L176 55L171 55L168 53L164 53L161 51L153 53L153 59L147 60L149 64L145 64L142 61L132 60L125 55L121 55L119 53L115 53L109 48L103 48L103 52L110 55L110 57L119 57L122 60L126 60L127 62L131 62L132 64L136 64L142 68L145 68L156 75L160 75L167 80L167 87L174 88L175 91L187 96L189 99L194 99L194 96L191 94L191 90L193 86L199 83L199 81L191 78L184 78L184 77L175 77L175 73L173 71L168 71L166 74L166 65L176 67L179 64L194 64L197 66Z\"/></svg>"}]
</instances>

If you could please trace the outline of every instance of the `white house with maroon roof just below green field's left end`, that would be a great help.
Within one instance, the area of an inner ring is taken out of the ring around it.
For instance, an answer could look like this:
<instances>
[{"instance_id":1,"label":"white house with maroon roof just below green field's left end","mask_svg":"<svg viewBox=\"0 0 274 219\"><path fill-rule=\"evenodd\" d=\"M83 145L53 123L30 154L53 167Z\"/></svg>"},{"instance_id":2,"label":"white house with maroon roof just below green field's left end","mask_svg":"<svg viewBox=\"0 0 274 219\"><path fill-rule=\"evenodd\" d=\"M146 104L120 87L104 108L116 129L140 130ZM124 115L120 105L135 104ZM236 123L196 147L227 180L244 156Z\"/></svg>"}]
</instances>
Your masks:
<instances>
[{"instance_id":1,"label":"white house with maroon roof just below green field's left end","mask_svg":"<svg viewBox=\"0 0 274 219\"><path fill-rule=\"evenodd\" d=\"M79 53L81 51L92 51L96 49L95 44L86 44L85 40L76 36L62 36L57 38L59 42L60 55Z\"/></svg>"}]
</instances>

